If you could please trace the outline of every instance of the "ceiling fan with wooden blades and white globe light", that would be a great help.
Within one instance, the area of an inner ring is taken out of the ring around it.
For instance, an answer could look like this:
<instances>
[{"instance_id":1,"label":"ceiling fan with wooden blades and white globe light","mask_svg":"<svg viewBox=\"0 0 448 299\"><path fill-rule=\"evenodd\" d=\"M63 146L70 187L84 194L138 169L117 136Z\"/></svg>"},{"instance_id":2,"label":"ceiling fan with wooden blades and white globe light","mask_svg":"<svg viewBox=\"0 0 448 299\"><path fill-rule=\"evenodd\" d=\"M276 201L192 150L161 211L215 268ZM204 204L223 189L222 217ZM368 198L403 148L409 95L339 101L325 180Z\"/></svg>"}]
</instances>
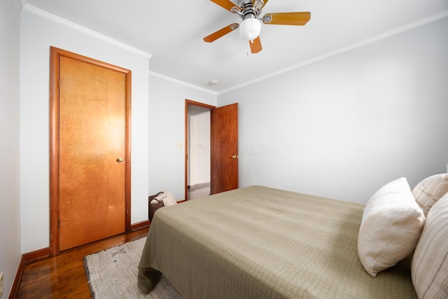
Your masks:
<instances>
[{"instance_id":1,"label":"ceiling fan with wooden blades and white globe light","mask_svg":"<svg viewBox=\"0 0 448 299\"><path fill-rule=\"evenodd\" d=\"M225 34L239 28L241 38L249 41L251 53L258 53L262 50L260 41L261 22L269 25L299 25L307 24L311 18L311 13L267 13L260 18L263 7L269 0L238 0L238 5L230 0L210 0L221 6L230 13L236 13L241 18L241 22L230 24L217 32L204 37L204 41L211 43Z\"/></svg>"}]
</instances>

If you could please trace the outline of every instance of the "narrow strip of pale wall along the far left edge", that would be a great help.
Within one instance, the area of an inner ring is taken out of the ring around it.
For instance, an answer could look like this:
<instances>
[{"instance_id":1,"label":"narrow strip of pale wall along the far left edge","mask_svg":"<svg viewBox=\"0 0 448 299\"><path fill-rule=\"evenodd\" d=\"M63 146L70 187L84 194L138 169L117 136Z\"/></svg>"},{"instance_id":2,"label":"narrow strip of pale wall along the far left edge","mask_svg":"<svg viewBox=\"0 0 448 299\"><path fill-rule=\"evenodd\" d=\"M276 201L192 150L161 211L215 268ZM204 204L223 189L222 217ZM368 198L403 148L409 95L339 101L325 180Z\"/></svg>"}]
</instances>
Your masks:
<instances>
[{"instance_id":1,"label":"narrow strip of pale wall along the far left edge","mask_svg":"<svg viewBox=\"0 0 448 299\"><path fill-rule=\"evenodd\" d=\"M20 3L0 1L0 272L8 298L20 262Z\"/></svg>"}]
</instances>

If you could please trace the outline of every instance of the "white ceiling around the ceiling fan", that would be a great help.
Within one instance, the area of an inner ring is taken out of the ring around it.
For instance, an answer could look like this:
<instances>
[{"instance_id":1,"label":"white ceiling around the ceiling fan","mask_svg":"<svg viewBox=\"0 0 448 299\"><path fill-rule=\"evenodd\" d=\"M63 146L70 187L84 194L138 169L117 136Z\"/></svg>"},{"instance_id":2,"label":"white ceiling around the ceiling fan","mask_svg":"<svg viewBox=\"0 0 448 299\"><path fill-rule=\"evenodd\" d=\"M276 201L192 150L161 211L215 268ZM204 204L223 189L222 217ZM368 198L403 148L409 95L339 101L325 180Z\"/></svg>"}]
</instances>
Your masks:
<instances>
[{"instance_id":1,"label":"white ceiling around the ceiling fan","mask_svg":"<svg viewBox=\"0 0 448 299\"><path fill-rule=\"evenodd\" d=\"M311 20L303 27L262 25L263 50L248 55L248 42L238 32L214 43L202 40L240 21L209 0L21 1L27 11L57 16L148 53L150 71L211 92L231 90L448 16L448 0L270 0L261 15L310 11ZM218 85L210 85L212 79Z\"/></svg>"}]
</instances>

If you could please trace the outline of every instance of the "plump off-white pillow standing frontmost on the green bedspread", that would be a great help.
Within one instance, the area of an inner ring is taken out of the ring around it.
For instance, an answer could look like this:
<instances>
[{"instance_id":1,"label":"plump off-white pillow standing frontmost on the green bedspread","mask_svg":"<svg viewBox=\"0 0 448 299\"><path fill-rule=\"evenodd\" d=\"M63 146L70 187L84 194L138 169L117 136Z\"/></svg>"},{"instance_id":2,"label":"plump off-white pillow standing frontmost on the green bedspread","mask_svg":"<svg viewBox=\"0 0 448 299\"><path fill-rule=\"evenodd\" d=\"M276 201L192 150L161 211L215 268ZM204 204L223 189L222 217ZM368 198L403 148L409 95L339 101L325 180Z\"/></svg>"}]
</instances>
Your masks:
<instances>
[{"instance_id":1,"label":"plump off-white pillow standing frontmost on the green bedspread","mask_svg":"<svg viewBox=\"0 0 448 299\"><path fill-rule=\"evenodd\" d=\"M409 256L419 241L425 216L407 179L387 183L365 204L358 255L372 277Z\"/></svg>"}]
</instances>

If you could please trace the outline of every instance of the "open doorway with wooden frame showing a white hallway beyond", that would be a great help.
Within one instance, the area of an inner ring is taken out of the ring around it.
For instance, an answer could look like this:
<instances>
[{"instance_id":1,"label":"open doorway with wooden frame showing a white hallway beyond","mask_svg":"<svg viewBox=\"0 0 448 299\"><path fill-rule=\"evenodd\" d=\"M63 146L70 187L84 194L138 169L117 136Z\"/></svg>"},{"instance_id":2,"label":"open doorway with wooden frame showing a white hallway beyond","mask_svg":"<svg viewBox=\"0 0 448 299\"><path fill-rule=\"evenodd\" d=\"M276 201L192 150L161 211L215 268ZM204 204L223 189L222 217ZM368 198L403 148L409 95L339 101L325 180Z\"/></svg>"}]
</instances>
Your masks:
<instances>
[{"instance_id":1,"label":"open doorway with wooden frame showing a white hallway beyond","mask_svg":"<svg viewBox=\"0 0 448 299\"><path fill-rule=\"evenodd\" d=\"M186 200L210 194L211 110L214 108L186 100Z\"/></svg>"}]
</instances>

